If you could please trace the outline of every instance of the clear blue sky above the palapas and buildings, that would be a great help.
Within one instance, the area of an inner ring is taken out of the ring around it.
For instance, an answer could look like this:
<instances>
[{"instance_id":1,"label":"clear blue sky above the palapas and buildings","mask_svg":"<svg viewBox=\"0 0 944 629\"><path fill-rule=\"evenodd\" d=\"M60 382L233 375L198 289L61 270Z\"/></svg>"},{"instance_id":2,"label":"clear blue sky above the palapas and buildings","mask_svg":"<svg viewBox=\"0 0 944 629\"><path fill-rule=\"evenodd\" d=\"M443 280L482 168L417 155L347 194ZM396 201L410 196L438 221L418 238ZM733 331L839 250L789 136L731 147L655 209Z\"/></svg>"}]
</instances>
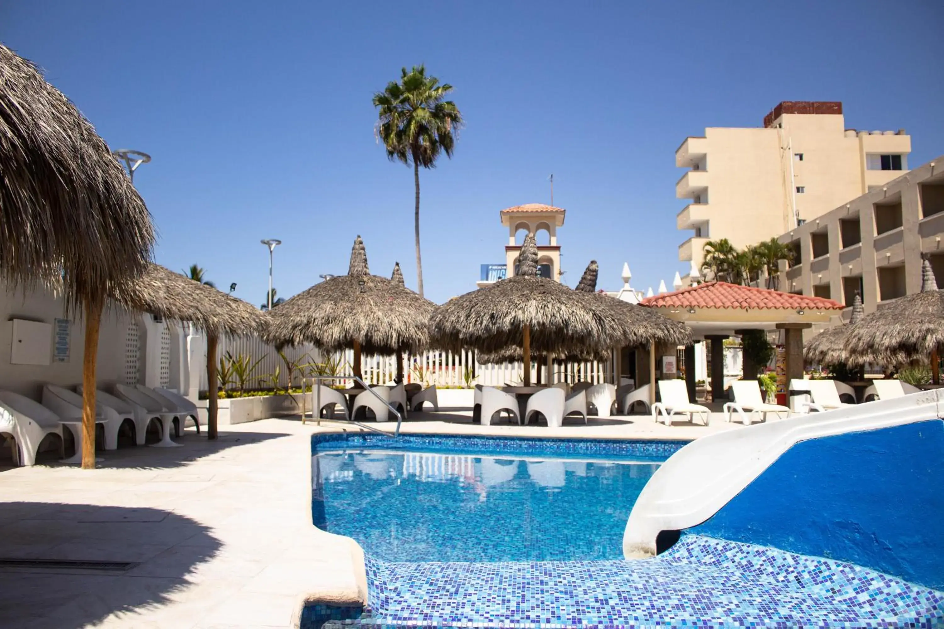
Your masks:
<instances>
[{"instance_id":1,"label":"clear blue sky above the palapas and buildings","mask_svg":"<svg viewBox=\"0 0 944 629\"><path fill-rule=\"evenodd\" d=\"M114 148L150 153L135 183L157 261L198 263L264 301L346 273L415 288L413 176L374 139L371 95L403 65L455 86L467 127L421 173L424 278L436 302L503 261L498 210L567 209L565 281L671 283L683 232L676 147L760 125L783 100L839 100L846 124L904 127L912 165L944 153L940 33L925 2L75 2L0 4L0 40L46 72Z\"/></svg>"}]
</instances>

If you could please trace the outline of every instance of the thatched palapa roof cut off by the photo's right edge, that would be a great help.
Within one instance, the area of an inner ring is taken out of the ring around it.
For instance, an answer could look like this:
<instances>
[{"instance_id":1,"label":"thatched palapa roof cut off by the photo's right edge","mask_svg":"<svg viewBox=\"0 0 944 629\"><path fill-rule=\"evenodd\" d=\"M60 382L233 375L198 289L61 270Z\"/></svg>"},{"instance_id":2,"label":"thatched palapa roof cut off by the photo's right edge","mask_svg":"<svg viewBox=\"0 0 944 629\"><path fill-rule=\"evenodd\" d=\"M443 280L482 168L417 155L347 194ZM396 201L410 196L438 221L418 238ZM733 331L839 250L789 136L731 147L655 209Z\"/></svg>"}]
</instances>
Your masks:
<instances>
[{"instance_id":1,"label":"thatched palapa roof cut off by the photo's right edge","mask_svg":"<svg viewBox=\"0 0 944 629\"><path fill-rule=\"evenodd\" d=\"M944 345L944 290L937 290L931 263L921 262L921 291L904 295L852 325L850 356L877 356L890 365L924 360Z\"/></svg>"}]
</instances>

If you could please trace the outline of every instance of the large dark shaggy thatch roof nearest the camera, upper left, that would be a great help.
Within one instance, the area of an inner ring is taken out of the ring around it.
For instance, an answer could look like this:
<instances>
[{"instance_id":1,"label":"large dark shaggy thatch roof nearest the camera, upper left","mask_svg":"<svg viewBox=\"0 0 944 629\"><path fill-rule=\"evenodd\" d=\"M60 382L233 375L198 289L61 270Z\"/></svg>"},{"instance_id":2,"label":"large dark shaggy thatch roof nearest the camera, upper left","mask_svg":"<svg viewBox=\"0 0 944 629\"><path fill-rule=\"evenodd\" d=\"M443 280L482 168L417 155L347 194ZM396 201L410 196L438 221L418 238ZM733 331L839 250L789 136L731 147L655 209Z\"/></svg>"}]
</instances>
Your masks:
<instances>
[{"instance_id":1,"label":"large dark shaggy thatch roof nearest the camera, upper left","mask_svg":"<svg viewBox=\"0 0 944 629\"><path fill-rule=\"evenodd\" d=\"M141 273L154 228L108 145L31 62L0 44L0 277L70 302Z\"/></svg>"}]
</instances>

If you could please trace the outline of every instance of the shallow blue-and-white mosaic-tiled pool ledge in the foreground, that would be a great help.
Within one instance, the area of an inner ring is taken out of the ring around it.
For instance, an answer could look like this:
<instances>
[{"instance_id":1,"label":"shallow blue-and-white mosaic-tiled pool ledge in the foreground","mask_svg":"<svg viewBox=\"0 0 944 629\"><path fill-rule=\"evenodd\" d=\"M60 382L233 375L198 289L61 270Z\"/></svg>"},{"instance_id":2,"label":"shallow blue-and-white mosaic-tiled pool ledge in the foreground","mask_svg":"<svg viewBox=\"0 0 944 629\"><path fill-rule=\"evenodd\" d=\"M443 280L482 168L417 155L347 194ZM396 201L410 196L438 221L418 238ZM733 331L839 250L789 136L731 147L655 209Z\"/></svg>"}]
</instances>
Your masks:
<instances>
[{"instance_id":1,"label":"shallow blue-and-white mosaic-tiled pool ledge in the foreground","mask_svg":"<svg viewBox=\"0 0 944 629\"><path fill-rule=\"evenodd\" d=\"M695 535L642 561L368 559L367 571L372 609L335 613L326 626L944 626L944 592L851 564ZM321 627L327 617L319 622L310 611L307 626Z\"/></svg>"}]
</instances>

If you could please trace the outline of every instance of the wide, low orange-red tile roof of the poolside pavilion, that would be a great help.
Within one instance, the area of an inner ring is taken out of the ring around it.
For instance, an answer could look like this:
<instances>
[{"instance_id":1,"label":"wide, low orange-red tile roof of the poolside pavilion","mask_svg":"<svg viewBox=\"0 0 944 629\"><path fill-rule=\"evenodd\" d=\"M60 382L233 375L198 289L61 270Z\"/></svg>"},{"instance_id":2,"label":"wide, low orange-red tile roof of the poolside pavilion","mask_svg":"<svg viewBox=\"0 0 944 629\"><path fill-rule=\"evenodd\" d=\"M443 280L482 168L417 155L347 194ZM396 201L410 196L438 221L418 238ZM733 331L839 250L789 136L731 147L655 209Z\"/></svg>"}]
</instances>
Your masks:
<instances>
[{"instance_id":1,"label":"wide, low orange-red tile roof of the poolside pavilion","mask_svg":"<svg viewBox=\"0 0 944 629\"><path fill-rule=\"evenodd\" d=\"M779 290L755 289L727 282L705 282L661 295L644 299L643 306L653 307L697 307L697 308L745 308L780 310L841 310L845 306L824 297L794 295Z\"/></svg>"}]
</instances>

